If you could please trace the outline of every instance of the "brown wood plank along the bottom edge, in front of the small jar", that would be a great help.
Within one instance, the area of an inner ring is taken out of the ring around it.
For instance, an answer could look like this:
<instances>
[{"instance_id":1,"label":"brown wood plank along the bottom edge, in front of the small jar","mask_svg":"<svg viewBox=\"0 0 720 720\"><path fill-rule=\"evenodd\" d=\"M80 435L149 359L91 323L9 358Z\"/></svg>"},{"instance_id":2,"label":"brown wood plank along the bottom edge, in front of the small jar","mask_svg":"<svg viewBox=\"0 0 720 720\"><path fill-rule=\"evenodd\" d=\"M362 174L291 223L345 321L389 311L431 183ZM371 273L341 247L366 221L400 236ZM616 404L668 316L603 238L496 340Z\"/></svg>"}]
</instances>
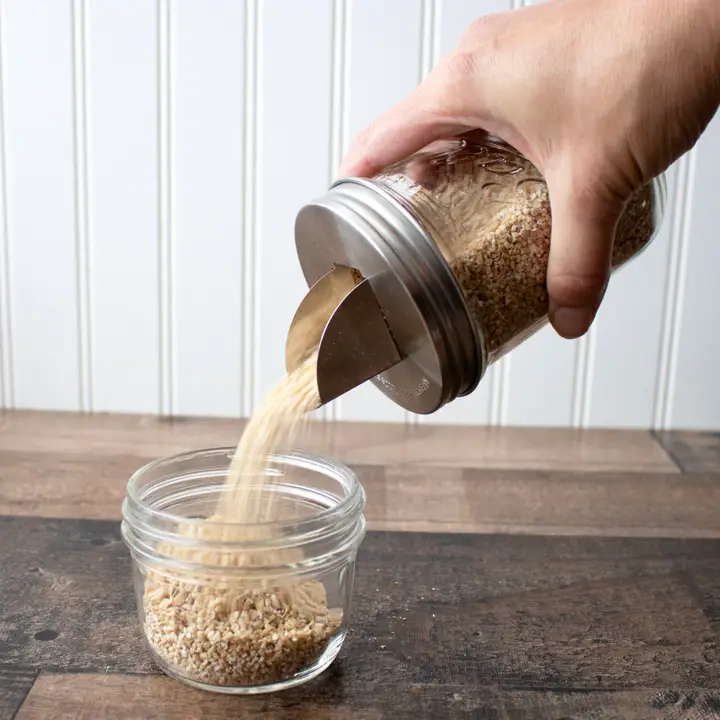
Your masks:
<instances>
[{"instance_id":1,"label":"brown wood plank along the bottom edge, in front of the small jar","mask_svg":"<svg viewBox=\"0 0 720 720\"><path fill-rule=\"evenodd\" d=\"M506 718L512 720L712 720L720 694L693 690L562 692L425 685L397 688L381 698L350 696L329 673L306 688L271 697L201 693L164 677L43 674L17 720L376 720L380 718ZM354 692L352 691L354 690ZM362 705L374 707L362 707ZM421 713L421 714L418 714Z\"/></svg>"}]
</instances>

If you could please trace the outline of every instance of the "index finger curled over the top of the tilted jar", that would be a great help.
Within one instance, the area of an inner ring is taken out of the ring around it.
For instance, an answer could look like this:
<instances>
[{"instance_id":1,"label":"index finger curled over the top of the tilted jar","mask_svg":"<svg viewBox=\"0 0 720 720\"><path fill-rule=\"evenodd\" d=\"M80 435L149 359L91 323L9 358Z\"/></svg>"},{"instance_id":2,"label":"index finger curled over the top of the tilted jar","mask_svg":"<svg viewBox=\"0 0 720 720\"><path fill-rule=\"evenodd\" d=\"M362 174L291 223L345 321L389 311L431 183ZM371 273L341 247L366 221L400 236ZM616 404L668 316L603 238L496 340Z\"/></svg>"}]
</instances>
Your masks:
<instances>
[{"instance_id":1,"label":"index finger curled over the top of the tilted jar","mask_svg":"<svg viewBox=\"0 0 720 720\"><path fill-rule=\"evenodd\" d=\"M437 91L440 84L432 80L433 74L355 138L340 177L370 177L435 140L471 129L449 115Z\"/></svg>"}]
</instances>

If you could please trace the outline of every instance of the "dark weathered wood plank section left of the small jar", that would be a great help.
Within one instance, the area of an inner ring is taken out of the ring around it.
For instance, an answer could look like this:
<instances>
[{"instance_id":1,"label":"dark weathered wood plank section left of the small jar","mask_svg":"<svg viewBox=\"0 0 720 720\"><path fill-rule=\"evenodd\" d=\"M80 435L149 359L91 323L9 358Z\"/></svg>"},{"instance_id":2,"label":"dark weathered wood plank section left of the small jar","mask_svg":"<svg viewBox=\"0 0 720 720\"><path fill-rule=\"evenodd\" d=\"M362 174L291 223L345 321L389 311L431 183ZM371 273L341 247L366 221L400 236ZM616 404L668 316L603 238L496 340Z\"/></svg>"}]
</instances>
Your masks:
<instances>
[{"instance_id":1,"label":"dark weathered wood plank section left of the small jar","mask_svg":"<svg viewBox=\"0 0 720 720\"><path fill-rule=\"evenodd\" d=\"M155 672L116 522L0 518L0 665Z\"/></svg>"}]
</instances>

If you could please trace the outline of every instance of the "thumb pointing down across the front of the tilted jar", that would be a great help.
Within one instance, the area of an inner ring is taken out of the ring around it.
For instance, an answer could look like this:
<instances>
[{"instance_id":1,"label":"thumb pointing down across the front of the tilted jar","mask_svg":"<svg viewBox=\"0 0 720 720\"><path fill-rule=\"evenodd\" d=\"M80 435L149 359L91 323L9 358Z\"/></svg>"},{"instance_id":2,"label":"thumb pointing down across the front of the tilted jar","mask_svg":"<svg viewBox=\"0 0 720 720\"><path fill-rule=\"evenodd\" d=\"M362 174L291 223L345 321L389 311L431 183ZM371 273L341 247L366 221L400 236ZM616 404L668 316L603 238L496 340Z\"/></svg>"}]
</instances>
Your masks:
<instances>
[{"instance_id":1,"label":"thumb pointing down across the front of the tilted jar","mask_svg":"<svg viewBox=\"0 0 720 720\"><path fill-rule=\"evenodd\" d=\"M577 183L573 175L577 177L577 173L565 172L547 178L552 208L547 272L550 322L569 339L584 335L595 319L610 277L615 230L625 207L601 181Z\"/></svg>"}]
</instances>

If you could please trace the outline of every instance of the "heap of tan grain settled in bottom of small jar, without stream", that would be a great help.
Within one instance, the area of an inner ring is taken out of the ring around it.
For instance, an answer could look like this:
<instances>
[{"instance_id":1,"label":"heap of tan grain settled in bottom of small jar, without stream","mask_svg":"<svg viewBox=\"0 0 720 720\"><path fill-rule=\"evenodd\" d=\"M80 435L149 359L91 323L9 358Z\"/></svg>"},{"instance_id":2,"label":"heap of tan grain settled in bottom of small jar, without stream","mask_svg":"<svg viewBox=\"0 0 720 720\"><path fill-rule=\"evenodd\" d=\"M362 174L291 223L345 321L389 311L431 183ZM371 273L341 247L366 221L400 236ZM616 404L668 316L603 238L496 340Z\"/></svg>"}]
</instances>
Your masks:
<instances>
[{"instance_id":1,"label":"heap of tan grain settled in bottom of small jar, without stream","mask_svg":"<svg viewBox=\"0 0 720 720\"><path fill-rule=\"evenodd\" d=\"M150 647L171 672L225 687L269 685L311 667L343 619L319 582L257 590L168 578L146 581L144 615Z\"/></svg>"}]
</instances>

